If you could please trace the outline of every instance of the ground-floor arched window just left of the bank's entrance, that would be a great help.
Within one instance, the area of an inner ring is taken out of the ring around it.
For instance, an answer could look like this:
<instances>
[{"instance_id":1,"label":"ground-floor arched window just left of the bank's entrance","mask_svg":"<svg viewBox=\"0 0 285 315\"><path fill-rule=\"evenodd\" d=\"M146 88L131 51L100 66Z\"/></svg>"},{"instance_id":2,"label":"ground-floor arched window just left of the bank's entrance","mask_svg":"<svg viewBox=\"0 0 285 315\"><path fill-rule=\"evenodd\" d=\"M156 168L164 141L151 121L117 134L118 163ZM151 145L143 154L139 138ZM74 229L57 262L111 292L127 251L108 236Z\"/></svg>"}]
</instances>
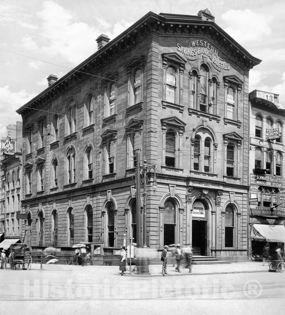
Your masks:
<instances>
[{"instance_id":1,"label":"ground-floor arched window just left of the bank's entrance","mask_svg":"<svg viewBox=\"0 0 285 315\"><path fill-rule=\"evenodd\" d=\"M167 200L164 204L164 244L176 243L176 210L175 203Z\"/></svg>"}]
</instances>

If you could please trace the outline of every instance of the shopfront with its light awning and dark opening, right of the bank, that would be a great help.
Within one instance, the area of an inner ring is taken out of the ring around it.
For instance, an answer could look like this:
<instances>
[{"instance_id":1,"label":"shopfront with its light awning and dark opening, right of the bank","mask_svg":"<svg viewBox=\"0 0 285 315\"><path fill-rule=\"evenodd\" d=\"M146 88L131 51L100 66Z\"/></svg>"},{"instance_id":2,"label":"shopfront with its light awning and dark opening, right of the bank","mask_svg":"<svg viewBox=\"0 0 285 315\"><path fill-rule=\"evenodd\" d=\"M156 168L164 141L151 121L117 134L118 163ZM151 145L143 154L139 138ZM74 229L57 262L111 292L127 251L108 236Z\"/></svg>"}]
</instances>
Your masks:
<instances>
[{"instance_id":1,"label":"shopfront with its light awning and dark opening, right of the bank","mask_svg":"<svg viewBox=\"0 0 285 315\"><path fill-rule=\"evenodd\" d=\"M284 253L285 226L251 224L251 253L253 260L261 260L263 248L266 243L270 245L270 256L273 257L274 250L279 247Z\"/></svg>"}]
</instances>

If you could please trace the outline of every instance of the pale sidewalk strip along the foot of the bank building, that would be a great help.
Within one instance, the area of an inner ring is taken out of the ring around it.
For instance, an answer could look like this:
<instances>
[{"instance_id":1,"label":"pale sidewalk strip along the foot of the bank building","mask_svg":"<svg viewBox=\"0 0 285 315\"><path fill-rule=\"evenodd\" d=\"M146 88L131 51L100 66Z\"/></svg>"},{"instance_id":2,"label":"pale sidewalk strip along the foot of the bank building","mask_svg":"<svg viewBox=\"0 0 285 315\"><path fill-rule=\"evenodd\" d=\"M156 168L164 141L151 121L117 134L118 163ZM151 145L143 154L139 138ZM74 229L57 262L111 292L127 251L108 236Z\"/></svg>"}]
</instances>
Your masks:
<instances>
[{"instance_id":1,"label":"pale sidewalk strip along the foot of the bank building","mask_svg":"<svg viewBox=\"0 0 285 315\"><path fill-rule=\"evenodd\" d=\"M134 266L132 266L134 267ZM33 264L31 270L39 270L40 264ZM161 265L149 265L149 275L138 275L136 272L129 274L129 266L126 266L126 277L162 277ZM96 274L118 274L119 266L69 266L69 265L46 265L43 264L43 271L79 271L84 273L95 272ZM208 274L225 274L225 273L247 273L247 272L268 272L269 266L263 266L262 262L236 262L232 264L213 264L213 265L192 265L192 272L189 268L180 268L181 272L176 272L172 264L167 265L165 277L171 276L190 276L190 275L208 275Z\"/></svg>"}]
</instances>

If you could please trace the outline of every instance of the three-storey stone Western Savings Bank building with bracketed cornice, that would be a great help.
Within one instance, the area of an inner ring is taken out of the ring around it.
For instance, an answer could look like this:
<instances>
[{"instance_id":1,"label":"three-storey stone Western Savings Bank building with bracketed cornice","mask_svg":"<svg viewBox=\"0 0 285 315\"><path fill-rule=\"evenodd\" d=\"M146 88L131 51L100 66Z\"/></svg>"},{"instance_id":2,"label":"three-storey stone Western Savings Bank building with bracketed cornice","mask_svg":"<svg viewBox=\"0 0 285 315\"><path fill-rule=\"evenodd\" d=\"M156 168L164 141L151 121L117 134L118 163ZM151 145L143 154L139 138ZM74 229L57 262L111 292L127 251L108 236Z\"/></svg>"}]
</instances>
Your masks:
<instances>
[{"instance_id":1,"label":"three-storey stone Western Savings Bank building with bracketed cornice","mask_svg":"<svg viewBox=\"0 0 285 315\"><path fill-rule=\"evenodd\" d=\"M96 41L96 53L49 76L17 111L25 242L102 242L113 254L124 234L136 241L138 151L157 169L146 185L150 248L190 243L194 255L247 259L248 72L261 60L208 10L149 12Z\"/></svg>"}]
</instances>

